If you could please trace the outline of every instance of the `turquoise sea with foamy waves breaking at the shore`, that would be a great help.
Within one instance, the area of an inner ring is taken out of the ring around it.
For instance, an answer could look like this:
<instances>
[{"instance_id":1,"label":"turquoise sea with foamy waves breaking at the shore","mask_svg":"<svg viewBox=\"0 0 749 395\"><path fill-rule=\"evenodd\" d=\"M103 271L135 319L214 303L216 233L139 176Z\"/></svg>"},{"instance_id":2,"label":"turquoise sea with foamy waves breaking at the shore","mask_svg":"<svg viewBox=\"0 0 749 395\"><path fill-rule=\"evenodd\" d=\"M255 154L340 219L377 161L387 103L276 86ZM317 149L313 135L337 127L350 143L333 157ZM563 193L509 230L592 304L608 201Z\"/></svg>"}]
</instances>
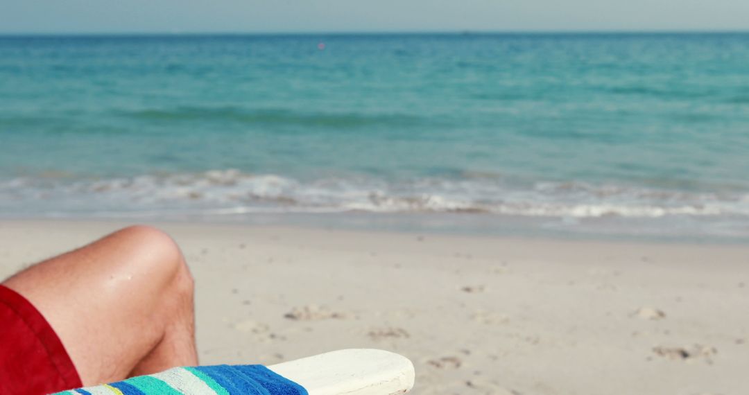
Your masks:
<instances>
[{"instance_id":1,"label":"turquoise sea with foamy waves breaking at the shore","mask_svg":"<svg viewBox=\"0 0 749 395\"><path fill-rule=\"evenodd\" d=\"M741 239L748 169L749 34L0 37L6 218Z\"/></svg>"}]
</instances>

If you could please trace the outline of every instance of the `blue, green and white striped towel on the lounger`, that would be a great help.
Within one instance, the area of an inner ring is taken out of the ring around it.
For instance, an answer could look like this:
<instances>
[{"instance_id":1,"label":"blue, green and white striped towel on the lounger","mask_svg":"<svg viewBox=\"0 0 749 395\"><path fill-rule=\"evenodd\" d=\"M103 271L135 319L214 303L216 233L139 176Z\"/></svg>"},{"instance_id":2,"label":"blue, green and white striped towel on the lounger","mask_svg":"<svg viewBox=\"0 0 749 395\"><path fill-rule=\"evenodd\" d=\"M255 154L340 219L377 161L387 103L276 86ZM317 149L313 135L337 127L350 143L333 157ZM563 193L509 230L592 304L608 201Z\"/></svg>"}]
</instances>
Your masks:
<instances>
[{"instance_id":1,"label":"blue, green and white striped towel on the lounger","mask_svg":"<svg viewBox=\"0 0 749 395\"><path fill-rule=\"evenodd\" d=\"M307 395L295 382L262 365L175 367L121 382L58 392L55 395Z\"/></svg>"}]
</instances>

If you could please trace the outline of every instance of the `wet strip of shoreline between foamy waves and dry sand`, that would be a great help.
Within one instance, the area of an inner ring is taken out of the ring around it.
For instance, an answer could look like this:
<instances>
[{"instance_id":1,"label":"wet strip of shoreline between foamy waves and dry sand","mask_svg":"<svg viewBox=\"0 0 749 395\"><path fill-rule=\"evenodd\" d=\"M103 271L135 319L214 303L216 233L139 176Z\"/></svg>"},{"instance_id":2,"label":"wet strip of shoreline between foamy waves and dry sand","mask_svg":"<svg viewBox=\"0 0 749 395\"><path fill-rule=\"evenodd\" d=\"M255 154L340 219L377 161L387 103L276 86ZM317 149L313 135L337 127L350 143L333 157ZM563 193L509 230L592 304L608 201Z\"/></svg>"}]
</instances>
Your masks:
<instances>
[{"instance_id":1,"label":"wet strip of shoreline between foamy waves and dry sand","mask_svg":"<svg viewBox=\"0 0 749 395\"><path fill-rule=\"evenodd\" d=\"M471 213L281 213L253 214L236 217L86 217L86 216L0 216L1 224L12 223L71 223L71 224L163 224L187 227L274 227L284 229L332 230L353 233L395 233L404 235L425 234L467 238L545 240L559 242L602 242L664 245L749 245L748 236L714 236L689 233L638 233L595 232L595 229L545 227L544 222L557 222L559 218L506 218Z\"/></svg>"}]
</instances>

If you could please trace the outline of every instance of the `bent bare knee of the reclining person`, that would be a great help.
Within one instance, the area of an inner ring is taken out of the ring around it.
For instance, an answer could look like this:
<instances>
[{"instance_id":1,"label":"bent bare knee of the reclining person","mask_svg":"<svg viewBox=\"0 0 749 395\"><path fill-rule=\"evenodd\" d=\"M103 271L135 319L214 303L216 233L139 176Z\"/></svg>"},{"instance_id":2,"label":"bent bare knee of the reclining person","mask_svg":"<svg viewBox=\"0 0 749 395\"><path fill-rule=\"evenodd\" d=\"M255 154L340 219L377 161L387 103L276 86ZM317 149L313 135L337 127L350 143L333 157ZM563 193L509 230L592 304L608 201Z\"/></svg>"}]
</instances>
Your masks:
<instances>
[{"instance_id":1,"label":"bent bare knee of the reclining person","mask_svg":"<svg viewBox=\"0 0 749 395\"><path fill-rule=\"evenodd\" d=\"M148 266L144 268L148 272L163 276L168 282L176 283L180 290L192 293L192 275L177 242L169 234L156 227L134 225L118 230L113 236L141 257L136 262Z\"/></svg>"}]
</instances>

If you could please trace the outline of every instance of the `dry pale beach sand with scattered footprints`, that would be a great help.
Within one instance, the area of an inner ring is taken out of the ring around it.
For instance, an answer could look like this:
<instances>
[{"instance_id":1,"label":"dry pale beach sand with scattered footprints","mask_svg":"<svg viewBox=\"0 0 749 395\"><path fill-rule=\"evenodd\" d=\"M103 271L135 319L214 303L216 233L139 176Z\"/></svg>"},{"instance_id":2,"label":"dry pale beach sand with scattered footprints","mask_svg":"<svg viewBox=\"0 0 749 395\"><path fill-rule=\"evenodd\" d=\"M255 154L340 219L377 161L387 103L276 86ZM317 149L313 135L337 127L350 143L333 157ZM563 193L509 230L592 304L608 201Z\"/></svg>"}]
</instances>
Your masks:
<instances>
[{"instance_id":1,"label":"dry pale beach sand with scattered footprints","mask_svg":"<svg viewBox=\"0 0 749 395\"><path fill-rule=\"evenodd\" d=\"M0 277L121 224L0 222ZM372 347L414 394L747 394L749 248L162 224L201 363Z\"/></svg>"}]
</instances>

